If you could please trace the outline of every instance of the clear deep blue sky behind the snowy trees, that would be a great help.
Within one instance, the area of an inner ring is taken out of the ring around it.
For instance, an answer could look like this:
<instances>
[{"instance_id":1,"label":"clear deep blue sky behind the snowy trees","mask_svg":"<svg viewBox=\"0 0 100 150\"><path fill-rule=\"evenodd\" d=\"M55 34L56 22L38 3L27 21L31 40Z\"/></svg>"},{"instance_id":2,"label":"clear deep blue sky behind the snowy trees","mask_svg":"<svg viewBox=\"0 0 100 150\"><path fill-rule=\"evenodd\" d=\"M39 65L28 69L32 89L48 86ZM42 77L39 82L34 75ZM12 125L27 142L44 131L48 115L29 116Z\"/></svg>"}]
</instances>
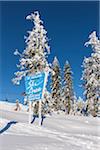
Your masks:
<instances>
[{"instance_id":1,"label":"clear deep blue sky behind the snowy trees","mask_svg":"<svg viewBox=\"0 0 100 150\"><path fill-rule=\"evenodd\" d=\"M13 85L11 79L17 71L18 56L13 53L16 48L21 52L25 48L24 35L33 24L25 17L38 10L44 21L50 39L52 63L57 56L60 66L69 61L73 71L73 84L77 96L82 96L82 61L91 54L91 48L85 48L88 35L96 30L99 36L99 2L0 2L0 99L19 98L24 89L24 80L20 86Z\"/></svg>"}]
</instances>

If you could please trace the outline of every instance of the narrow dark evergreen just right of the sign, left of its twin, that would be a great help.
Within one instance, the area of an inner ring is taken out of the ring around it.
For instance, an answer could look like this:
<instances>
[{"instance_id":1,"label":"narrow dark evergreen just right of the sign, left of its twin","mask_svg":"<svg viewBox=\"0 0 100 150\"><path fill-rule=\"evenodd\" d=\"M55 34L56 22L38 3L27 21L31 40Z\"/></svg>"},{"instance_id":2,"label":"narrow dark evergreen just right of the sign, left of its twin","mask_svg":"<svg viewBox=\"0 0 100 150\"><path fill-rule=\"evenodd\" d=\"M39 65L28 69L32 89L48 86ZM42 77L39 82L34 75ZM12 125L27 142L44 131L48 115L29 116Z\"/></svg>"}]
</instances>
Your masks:
<instances>
[{"instance_id":1,"label":"narrow dark evergreen just right of the sign, left of its twin","mask_svg":"<svg viewBox=\"0 0 100 150\"><path fill-rule=\"evenodd\" d=\"M51 96L52 109L54 111L61 110L61 69L57 57L54 58L51 74Z\"/></svg>"}]
</instances>

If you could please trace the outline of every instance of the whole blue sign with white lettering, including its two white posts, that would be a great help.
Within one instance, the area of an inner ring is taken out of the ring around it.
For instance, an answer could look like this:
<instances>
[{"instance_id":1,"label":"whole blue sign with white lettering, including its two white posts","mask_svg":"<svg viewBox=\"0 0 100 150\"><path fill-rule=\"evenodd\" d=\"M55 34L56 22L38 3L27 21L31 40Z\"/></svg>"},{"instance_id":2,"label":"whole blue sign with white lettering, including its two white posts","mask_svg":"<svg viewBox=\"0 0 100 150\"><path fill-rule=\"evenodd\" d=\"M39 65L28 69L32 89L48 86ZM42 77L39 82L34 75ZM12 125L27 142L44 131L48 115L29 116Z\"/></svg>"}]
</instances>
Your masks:
<instances>
[{"instance_id":1,"label":"whole blue sign with white lettering, including its two white posts","mask_svg":"<svg viewBox=\"0 0 100 150\"><path fill-rule=\"evenodd\" d=\"M41 126L41 101L44 98L48 73L40 72L25 77L26 94L29 99L29 124L32 117L32 101L39 101L39 126Z\"/></svg>"}]
</instances>

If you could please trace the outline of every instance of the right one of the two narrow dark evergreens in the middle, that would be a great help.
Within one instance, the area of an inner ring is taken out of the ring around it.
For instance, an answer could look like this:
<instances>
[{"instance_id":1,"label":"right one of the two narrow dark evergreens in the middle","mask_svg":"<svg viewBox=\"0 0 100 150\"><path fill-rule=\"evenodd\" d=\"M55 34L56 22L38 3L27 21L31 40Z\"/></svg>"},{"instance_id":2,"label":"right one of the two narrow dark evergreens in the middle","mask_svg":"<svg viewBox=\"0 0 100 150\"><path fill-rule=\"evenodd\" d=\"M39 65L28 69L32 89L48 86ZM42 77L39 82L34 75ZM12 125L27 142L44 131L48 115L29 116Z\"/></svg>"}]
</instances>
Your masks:
<instances>
[{"instance_id":1,"label":"right one of the two narrow dark evergreens in the middle","mask_svg":"<svg viewBox=\"0 0 100 150\"><path fill-rule=\"evenodd\" d=\"M74 111L74 94L72 71L68 61L64 65L63 99L66 113L72 113Z\"/></svg>"}]
</instances>

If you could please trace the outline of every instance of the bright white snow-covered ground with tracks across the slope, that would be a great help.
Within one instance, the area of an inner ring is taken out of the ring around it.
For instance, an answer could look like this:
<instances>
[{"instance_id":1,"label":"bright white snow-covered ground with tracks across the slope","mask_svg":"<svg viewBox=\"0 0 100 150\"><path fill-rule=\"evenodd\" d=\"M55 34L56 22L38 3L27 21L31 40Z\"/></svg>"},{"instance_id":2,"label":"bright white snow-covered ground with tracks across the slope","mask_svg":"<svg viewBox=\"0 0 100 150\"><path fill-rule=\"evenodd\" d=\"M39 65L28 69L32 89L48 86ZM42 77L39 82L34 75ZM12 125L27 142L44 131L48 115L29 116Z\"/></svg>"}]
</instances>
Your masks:
<instances>
[{"instance_id":1,"label":"bright white snow-covered ground with tracks across the slope","mask_svg":"<svg viewBox=\"0 0 100 150\"><path fill-rule=\"evenodd\" d=\"M14 105L0 102L0 131L17 121L1 133L1 150L100 150L100 118L53 114L39 127L38 119L28 124L26 107L15 112Z\"/></svg>"}]
</instances>

